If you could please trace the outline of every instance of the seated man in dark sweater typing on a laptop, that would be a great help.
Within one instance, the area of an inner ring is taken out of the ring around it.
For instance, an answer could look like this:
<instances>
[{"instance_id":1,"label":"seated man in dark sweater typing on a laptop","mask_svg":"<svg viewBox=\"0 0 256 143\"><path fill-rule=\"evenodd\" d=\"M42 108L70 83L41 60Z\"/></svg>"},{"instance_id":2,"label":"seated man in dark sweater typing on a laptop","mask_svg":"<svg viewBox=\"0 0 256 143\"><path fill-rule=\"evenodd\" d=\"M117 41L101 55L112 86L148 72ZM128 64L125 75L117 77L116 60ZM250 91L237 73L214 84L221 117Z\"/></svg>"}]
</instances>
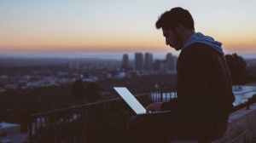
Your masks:
<instances>
[{"instance_id":1,"label":"seated man in dark sweater typing on a laptop","mask_svg":"<svg viewBox=\"0 0 256 143\"><path fill-rule=\"evenodd\" d=\"M128 123L129 134L140 143L218 140L228 128L235 101L222 43L195 32L194 20L186 9L166 11L155 26L162 28L166 45L181 50L177 98L149 105L147 112L171 113L133 117Z\"/></svg>"}]
</instances>

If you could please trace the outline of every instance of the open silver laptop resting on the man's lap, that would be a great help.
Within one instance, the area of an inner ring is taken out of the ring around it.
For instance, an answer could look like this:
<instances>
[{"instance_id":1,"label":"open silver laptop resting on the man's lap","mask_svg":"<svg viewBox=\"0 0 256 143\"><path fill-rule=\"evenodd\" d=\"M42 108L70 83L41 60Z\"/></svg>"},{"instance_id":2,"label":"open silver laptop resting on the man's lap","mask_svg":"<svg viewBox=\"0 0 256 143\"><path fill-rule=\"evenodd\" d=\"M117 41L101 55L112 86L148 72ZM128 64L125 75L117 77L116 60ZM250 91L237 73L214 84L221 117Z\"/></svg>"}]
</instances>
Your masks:
<instances>
[{"instance_id":1,"label":"open silver laptop resting on the man's lap","mask_svg":"<svg viewBox=\"0 0 256 143\"><path fill-rule=\"evenodd\" d=\"M146 113L146 109L142 106L142 104L131 94L131 92L126 89L125 87L113 87L115 91L119 93L119 95L125 100L125 102L131 106L131 109L137 113L137 115L143 114L154 114L160 115L165 114L170 111L163 111L163 112L148 112Z\"/></svg>"}]
</instances>

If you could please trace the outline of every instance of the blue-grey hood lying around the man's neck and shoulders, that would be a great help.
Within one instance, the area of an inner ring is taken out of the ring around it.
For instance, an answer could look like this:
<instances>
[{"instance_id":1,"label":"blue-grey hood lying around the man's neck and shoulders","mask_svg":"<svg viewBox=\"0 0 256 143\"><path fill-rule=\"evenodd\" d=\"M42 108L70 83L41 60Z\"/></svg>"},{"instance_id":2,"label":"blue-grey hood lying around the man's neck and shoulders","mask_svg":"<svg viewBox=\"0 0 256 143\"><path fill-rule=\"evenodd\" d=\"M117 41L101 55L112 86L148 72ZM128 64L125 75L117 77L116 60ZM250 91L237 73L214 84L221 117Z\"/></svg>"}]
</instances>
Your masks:
<instances>
[{"instance_id":1,"label":"blue-grey hood lying around the man's neck and shoulders","mask_svg":"<svg viewBox=\"0 0 256 143\"><path fill-rule=\"evenodd\" d=\"M212 47L212 49L216 49L219 53L224 54L223 49L221 48L222 43L215 41L212 37L204 36L201 32L197 32L189 37L189 40L183 47L185 49L192 43L204 43L208 46Z\"/></svg>"}]
</instances>

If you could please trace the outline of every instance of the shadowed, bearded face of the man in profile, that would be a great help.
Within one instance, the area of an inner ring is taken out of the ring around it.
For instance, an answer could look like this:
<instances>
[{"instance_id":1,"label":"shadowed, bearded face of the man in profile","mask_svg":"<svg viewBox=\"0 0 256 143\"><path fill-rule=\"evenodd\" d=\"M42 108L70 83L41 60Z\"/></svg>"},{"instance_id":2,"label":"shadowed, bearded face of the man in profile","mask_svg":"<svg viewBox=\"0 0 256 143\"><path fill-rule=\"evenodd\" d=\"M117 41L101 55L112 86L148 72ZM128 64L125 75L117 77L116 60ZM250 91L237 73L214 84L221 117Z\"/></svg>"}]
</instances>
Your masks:
<instances>
[{"instance_id":1,"label":"shadowed, bearded face of the man in profile","mask_svg":"<svg viewBox=\"0 0 256 143\"><path fill-rule=\"evenodd\" d=\"M183 49L182 37L177 34L177 31L164 28L162 30L164 37L166 37L166 45L170 45L175 50Z\"/></svg>"}]
</instances>

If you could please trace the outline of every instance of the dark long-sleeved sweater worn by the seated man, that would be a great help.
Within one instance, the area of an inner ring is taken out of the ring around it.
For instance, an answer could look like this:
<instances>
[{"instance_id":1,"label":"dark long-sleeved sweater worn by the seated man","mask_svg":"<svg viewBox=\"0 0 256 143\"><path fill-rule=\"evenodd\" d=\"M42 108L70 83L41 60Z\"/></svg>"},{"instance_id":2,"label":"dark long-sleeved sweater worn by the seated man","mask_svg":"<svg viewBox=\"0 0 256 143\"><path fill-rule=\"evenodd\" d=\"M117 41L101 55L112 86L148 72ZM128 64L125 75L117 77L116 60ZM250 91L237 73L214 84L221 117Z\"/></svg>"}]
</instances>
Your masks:
<instances>
[{"instance_id":1,"label":"dark long-sleeved sweater worn by the seated man","mask_svg":"<svg viewBox=\"0 0 256 143\"><path fill-rule=\"evenodd\" d=\"M216 123L228 120L234 110L236 98L224 55L204 43L192 43L181 51L176 88L177 98L163 102L162 111Z\"/></svg>"}]
</instances>

